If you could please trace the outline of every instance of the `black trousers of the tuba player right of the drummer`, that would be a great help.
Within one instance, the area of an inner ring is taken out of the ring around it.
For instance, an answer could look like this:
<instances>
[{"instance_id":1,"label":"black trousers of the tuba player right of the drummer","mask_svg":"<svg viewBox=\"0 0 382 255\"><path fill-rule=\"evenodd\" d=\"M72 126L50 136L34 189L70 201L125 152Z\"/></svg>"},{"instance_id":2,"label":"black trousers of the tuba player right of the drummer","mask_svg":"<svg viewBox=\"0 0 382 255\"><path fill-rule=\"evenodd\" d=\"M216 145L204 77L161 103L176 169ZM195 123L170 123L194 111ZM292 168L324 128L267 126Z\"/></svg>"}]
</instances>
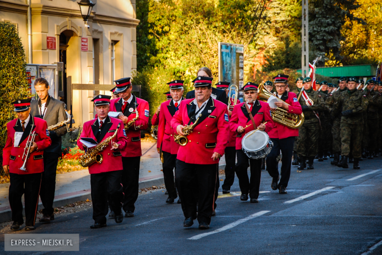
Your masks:
<instances>
[{"instance_id":1,"label":"black trousers of the tuba player right of the drummer","mask_svg":"<svg viewBox=\"0 0 382 255\"><path fill-rule=\"evenodd\" d=\"M277 177L279 177L276 158L281 150L283 157L281 159L281 178L278 187L287 187L290 177L290 166L292 164L294 137L284 139L271 138L271 140L273 142L273 147L271 152L266 156L266 170L272 178L277 179Z\"/></svg>"}]
</instances>

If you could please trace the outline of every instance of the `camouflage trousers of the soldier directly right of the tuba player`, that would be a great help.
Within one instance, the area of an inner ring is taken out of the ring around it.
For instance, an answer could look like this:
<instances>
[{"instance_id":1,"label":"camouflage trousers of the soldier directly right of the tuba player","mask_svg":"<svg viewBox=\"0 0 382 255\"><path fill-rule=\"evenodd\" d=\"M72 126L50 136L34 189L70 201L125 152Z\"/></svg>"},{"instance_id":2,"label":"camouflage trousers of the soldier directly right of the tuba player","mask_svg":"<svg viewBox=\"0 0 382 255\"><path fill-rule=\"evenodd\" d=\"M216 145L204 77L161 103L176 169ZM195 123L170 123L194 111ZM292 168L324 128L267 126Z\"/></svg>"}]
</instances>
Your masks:
<instances>
[{"instance_id":1,"label":"camouflage trousers of the soldier directly right of the tuba player","mask_svg":"<svg viewBox=\"0 0 382 255\"><path fill-rule=\"evenodd\" d=\"M298 130L297 154L299 157L314 158L317 155L319 130L318 122L304 123Z\"/></svg>"}]
</instances>

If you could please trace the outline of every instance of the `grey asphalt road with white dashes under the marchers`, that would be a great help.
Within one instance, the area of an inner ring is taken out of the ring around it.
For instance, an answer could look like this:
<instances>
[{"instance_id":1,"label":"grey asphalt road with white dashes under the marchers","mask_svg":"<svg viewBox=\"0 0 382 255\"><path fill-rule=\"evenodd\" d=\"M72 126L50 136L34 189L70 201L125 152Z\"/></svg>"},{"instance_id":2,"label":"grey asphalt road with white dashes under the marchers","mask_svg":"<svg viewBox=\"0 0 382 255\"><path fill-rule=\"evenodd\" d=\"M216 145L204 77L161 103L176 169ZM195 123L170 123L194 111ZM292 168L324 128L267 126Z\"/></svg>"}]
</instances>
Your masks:
<instances>
[{"instance_id":1,"label":"grey asphalt road with white dashes under the marchers","mask_svg":"<svg viewBox=\"0 0 382 255\"><path fill-rule=\"evenodd\" d=\"M80 254L381 255L382 158L360 164L345 170L314 161L314 170L302 172L292 166L285 195L271 190L262 172L258 204L240 201L236 179L231 191L237 193L217 200L210 230L199 230L197 221L184 228L180 205L165 204L158 190L140 195L136 216L121 224L108 220L107 228L91 230L87 210L37 223L33 233L79 233Z\"/></svg>"}]
</instances>

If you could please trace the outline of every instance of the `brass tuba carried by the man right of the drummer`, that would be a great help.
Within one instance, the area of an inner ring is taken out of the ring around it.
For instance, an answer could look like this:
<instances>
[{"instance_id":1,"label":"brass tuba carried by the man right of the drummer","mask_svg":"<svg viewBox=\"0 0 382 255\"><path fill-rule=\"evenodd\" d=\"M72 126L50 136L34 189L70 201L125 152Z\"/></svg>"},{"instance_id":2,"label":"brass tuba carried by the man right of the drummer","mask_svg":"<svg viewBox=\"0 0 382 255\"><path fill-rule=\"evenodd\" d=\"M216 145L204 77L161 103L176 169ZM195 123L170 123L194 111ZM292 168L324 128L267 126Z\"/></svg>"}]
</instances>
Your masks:
<instances>
[{"instance_id":1,"label":"brass tuba carried by the man right of the drummer","mask_svg":"<svg viewBox=\"0 0 382 255\"><path fill-rule=\"evenodd\" d=\"M264 88L263 84L259 87L259 95L258 99L260 101L266 102L272 93L270 93L267 89ZM276 97L278 100L282 101L280 98ZM284 102L284 101L282 101ZM285 102L284 102L285 103ZM279 123L281 125L287 126L292 129L297 129L302 126L304 123L304 114L290 114L287 110L277 107L275 112L271 112L271 116L273 121Z\"/></svg>"}]
</instances>

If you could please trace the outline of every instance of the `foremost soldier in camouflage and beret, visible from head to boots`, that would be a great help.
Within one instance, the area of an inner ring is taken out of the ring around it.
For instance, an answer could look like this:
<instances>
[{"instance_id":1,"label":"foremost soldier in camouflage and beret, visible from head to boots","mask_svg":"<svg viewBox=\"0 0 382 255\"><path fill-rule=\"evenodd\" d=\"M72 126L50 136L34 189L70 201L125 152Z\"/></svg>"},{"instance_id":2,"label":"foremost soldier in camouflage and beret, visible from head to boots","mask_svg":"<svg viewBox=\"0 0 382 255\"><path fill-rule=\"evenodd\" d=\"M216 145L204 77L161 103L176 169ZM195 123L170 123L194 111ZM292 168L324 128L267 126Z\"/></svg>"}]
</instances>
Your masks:
<instances>
[{"instance_id":1,"label":"foremost soldier in camouflage and beret, visible from head to boots","mask_svg":"<svg viewBox=\"0 0 382 255\"><path fill-rule=\"evenodd\" d=\"M359 135L363 131L363 116L367 109L367 99L361 91L357 90L357 79L349 77L348 88L340 93L332 115L341 116L341 161L339 167L349 168L348 157L350 154L350 144L353 143L352 153L354 157L353 168L359 169L359 158L361 157L362 137Z\"/></svg>"}]
</instances>

